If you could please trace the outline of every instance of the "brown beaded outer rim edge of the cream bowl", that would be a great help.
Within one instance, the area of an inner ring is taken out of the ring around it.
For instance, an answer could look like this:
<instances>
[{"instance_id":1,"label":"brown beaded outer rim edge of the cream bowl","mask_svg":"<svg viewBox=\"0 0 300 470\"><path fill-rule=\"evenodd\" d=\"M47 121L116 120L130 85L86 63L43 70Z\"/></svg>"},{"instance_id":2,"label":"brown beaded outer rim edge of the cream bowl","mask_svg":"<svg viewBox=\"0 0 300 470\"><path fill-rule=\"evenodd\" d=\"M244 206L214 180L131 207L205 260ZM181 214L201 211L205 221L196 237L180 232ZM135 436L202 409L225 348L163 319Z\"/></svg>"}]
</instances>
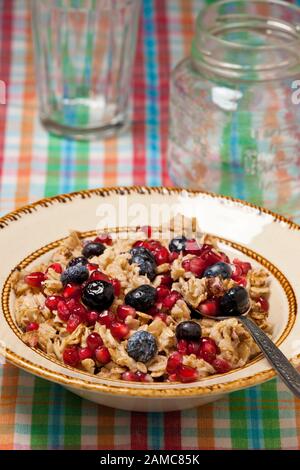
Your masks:
<instances>
[{"instance_id":1,"label":"brown beaded outer rim edge of the cream bowl","mask_svg":"<svg viewBox=\"0 0 300 470\"><path fill-rule=\"evenodd\" d=\"M8 224L12 223L20 219L23 215L28 215L28 213L32 213L36 211L38 207L49 207L55 203L66 203L70 202L77 197L81 197L83 199L93 196L109 196L109 195L130 195L132 193L141 194L141 195L151 195L153 193L157 194L165 194L168 193L169 195L173 194L180 194L185 193L191 196L197 195L204 195L214 199L221 199L228 202L233 202L235 204L241 204L242 206L250 207L259 211L259 213L264 213L266 215L271 215L274 219L274 222L283 222L287 225L289 229L300 231L300 225L296 224L295 222L287 219L286 217L276 214L269 209L265 209L259 207L255 204L249 203L247 201L243 201L241 199L233 198L231 196L223 196L215 193L210 193L206 191L197 191L197 190L188 190L184 188L172 188L172 187L164 187L164 186L157 186L157 187L149 187L149 186L113 186L113 187L105 187L105 188L95 188L95 189L87 189L82 191L75 191L72 193L65 193L56 195L53 197L42 198L38 201L35 201L31 204L27 204L22 206L8 214L4 215L0 218L0 230L4 229ZM28 346L29 347L29 346ZM186 397L186 396L204 396L204 395L219 395L222 393L228 393L230 391L234 391L241 388L250 387L253 385L260 384L267 380L270 380L274 376L276 376L276 372L274 369L270 368L261 372L254 373L252 375L238 378L235 380L229 380L228 382L224 383L215 383L211 385L201 385L201 381L197 383L197 386L190 387L187 384L185 387L172 387L172 384L168 384L168 387L165 388L147 388L144 384L131 384L131 386L123 386L120 385L119 382L116 384L111 383L97 383L93 381L89 381L79 377L71 377L59 371L53 371L48 369L44 366L35 364L23 357L19 356L18 354L14 353L10 349L5 348L2 351L2 355L6 357L6 359L11 362L12 364L21 367L22 369L38 375L44 379L48 379L57 383L60 383L64 386L75 388L75 389L82 389L82 390L89 390L91 392L101 392L104 394L109 395L122 395L122 396L134 396L134 397L145 397L145 398L169 398L169 397ZM291 358L292 361L300 360L300 354L295 355ZM49 361L50 362L50 361ZM51 363L51 362L50 362ZM68 370L67 367L64 367L61 364L62 368L65 368L66 371ZM74 369L76 370L76 369ZM233 371L234 373L234 371ZM221 374L223 376L224 374ZM159 387L159 385L158 385Z\"/></svg>"}]
</instances>

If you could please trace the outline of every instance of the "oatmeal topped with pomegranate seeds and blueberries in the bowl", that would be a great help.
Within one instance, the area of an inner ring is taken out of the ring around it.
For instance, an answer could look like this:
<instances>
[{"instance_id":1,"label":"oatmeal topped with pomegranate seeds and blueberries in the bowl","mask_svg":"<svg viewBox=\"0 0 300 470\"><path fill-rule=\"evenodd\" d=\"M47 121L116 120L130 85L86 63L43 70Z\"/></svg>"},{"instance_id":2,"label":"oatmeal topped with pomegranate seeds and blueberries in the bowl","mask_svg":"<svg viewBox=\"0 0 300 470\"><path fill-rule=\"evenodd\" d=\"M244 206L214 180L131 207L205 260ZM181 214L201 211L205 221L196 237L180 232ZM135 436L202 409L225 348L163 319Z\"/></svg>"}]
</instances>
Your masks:
<instances>
[{"instance_id":1,"label":"oatmeal topped with pomegranate seeds and blueberries in the bowl","mask_svg":"<svg viewBox=\"0 0 300 470\"><path fill-rule=\"evenodd\" d=\"M244 313L249 302L249 316L271 333L268 273L230 260L210 235L72 232L12 282L26 344L101 378L188 383L244 366L257 345L237 318L214 317Z\"/></svg>"}]
</instances>

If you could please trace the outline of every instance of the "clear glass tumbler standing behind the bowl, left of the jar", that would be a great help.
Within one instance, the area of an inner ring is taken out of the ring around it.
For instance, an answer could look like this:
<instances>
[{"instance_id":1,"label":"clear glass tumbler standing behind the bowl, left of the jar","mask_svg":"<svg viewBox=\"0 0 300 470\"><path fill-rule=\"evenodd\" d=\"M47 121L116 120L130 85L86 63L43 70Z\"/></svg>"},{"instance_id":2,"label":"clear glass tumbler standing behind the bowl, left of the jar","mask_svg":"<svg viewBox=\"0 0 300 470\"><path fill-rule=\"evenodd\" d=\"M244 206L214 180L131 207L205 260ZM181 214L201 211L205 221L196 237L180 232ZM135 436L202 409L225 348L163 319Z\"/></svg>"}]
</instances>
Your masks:
<instances>
[{"instance_id":1,"label":"clear glass tumbler standing behind the bowl, left of the jar","mask_svg":"<svg viewBox=\"0 0 300 470\"><path fill-rule=\"evenodd\" d=\"M123 130L140 0L31 1L44 126L87 140Z\"/></svg>"}]
</instances>

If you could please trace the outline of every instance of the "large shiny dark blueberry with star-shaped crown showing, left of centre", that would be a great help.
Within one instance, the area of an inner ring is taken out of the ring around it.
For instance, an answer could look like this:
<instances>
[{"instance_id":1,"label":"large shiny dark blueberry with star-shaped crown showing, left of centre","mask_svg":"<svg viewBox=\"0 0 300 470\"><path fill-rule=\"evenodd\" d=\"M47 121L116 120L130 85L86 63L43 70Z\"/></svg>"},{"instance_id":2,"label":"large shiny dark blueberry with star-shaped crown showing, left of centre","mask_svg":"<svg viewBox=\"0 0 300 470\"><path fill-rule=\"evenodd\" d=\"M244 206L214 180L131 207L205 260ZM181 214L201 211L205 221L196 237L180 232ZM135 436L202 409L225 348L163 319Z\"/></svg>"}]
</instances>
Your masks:
<instances>
[{"instance_id":1,"label":"large shiny dark blueberry with star-shaped crown showing, left of centre","mask_svg":"<svg viewBox=\"0 0 300 470\"><path fill-rule=\"evenodd\" d=\"M82 302L92 310L108 309L114 301L114 288L107 281L89 282L82 291Z\"/></svg>"}]
</instances>

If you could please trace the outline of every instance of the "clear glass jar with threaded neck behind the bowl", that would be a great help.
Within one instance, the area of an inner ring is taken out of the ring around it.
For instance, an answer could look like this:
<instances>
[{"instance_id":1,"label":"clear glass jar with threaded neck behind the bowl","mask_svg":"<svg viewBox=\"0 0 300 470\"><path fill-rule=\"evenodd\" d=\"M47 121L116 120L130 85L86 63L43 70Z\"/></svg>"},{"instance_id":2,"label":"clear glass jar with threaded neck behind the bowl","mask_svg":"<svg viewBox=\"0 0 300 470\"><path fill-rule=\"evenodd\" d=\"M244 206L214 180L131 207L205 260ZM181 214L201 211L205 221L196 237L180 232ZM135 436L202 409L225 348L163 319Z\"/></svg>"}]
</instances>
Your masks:
<instances>
[{"instance_id":1,"label":"clear glass jar with threaded neck behind the bowl","mask_svg":"<svg viewBox=\"0 0 300 470\"><path fill-rule=\"evenodd\" d=\"M297 80L298 79L298 80ZM175 184L300 216L300 8L221 1L172 73Z\"/></svg>"}]
</instances>

